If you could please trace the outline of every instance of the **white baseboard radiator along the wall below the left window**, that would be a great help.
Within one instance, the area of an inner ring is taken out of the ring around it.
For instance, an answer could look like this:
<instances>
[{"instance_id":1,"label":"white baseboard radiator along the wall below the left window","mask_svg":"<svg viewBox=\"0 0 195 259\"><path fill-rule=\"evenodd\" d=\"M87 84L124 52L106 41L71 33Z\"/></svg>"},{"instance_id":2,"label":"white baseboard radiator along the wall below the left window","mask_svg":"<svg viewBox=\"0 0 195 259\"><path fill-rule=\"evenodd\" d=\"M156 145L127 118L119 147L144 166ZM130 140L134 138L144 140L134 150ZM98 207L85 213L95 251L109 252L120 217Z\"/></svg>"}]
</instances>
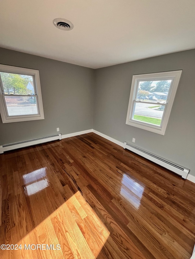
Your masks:
<instances>
[{"instance_id":1,"label":"white baseboard radiator along the wall below the left window","mask_svg":"<svg viewBox=\"0 0 195 259\"><path fill-rule=\"evenodd\" d=\"M0 154L2 154L5 151L9 151L9 150L17 149L17 148L29 147L29 146L38 145L41 143L59 140L59 139L62 139L61 133L43 137L43 138L35 138L35 139L21 141L21 142L17 142L17 143L13 143L13 144L2 145L2 146L0 146Z\"/></svg>"}]
</instances>

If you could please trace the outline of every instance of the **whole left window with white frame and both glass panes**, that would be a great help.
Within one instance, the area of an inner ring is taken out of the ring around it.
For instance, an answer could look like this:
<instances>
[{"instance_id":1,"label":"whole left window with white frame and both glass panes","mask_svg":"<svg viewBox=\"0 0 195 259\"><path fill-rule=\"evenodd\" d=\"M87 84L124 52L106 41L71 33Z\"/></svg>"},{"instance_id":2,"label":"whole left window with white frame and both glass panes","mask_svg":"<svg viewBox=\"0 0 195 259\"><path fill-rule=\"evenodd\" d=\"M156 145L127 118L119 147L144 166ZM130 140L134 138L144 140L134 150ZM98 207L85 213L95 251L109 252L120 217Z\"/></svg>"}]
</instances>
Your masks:
<instances>
[{"instance_id":1,"label":"whole left window with white frame and both glass panes","mask_svg":"<svg viewBox=\"0 0 195 259\"><path fill-rule=\"evenodd\" d=\"M44 119L39 71L0 65L3 123Z\"/></svg>"}]
</instances>

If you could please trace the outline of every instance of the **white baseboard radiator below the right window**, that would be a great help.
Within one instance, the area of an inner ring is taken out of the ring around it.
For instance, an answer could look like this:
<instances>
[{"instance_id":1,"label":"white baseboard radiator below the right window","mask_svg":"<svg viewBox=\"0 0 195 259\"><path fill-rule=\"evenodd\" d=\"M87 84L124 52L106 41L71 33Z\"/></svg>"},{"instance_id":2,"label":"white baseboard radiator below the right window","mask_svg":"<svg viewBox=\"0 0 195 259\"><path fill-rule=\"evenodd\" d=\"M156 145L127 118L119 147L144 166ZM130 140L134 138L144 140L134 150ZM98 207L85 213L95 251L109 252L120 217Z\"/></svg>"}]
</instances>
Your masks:
<instances>
[{"instance_id":1,"label":"white baseboard radiator below the right window","mask_svg":"<svg viewBox=\"0 0 195 259\"><path fill-rule=\"evenodd\" d=\"M144 149L138 148L136 146L133 146L127 142L124 143L124 148L128 149L144 158L147 158L148 160L161 165L163 167L165 167L166 169L178 174L179 176L181 176L182 178L186 179L188 173L189 173L189 169L184 168L180 165L177 165L173 162L170 162L162 157L159 157L157 155L154 155L150 152L145 151Z\"/></svg>"}]
</instances>

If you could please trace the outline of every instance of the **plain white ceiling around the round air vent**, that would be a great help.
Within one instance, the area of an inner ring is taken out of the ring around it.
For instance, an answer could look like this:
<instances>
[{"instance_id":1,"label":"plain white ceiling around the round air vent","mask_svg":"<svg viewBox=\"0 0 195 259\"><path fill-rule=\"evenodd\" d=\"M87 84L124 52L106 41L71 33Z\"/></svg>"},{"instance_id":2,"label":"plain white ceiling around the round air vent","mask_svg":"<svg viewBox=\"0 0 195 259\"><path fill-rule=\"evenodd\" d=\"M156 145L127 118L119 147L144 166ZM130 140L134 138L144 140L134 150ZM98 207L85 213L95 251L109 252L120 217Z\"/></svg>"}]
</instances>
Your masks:
<instances>
[{"instance_id":1,"label":"plain white ceiling around the round air vent","mask_svg":"<svg viewBox=\"0 0 195 259\"><path fill-rule=\"evenodd\" d=\"M0 46L91 68L193 49L195 0L1 0Z\"/></svg>"}]
</instances>

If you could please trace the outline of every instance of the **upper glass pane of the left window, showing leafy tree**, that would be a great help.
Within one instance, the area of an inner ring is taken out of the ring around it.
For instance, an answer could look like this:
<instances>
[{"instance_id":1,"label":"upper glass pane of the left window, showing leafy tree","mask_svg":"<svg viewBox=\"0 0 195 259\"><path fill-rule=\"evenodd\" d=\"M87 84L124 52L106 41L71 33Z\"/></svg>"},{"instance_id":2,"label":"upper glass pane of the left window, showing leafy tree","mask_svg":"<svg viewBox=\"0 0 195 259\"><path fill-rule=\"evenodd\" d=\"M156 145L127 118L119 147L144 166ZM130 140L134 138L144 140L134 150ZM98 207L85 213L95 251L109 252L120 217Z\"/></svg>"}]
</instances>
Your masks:
<instances>
[{"instance_id":1,"label":"upper glass pane of the left window, showing leafy tree","mask_svg":"<svg viewBox=\"0 0 195 259\"><path fill-rule=\"evenodd\" d=\"M5 94L34 95L33 77L0 72Z\"/></svg>"}]
</instances>

